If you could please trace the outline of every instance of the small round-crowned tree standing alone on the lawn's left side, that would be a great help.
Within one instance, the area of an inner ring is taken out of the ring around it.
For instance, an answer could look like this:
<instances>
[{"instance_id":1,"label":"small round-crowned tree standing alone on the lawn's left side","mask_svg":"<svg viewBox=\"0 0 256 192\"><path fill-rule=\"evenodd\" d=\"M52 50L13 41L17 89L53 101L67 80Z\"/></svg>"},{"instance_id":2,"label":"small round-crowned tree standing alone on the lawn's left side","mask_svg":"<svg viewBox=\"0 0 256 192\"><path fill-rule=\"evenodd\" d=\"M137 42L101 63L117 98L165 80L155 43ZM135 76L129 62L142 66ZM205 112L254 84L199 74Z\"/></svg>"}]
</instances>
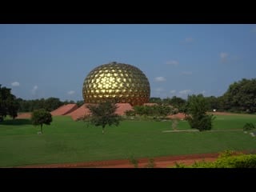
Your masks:
<instances>
[{"instance_id":1,"label":"small round-crowned tree standing alone on the lawn's left side","mask_svg":"<svg viewBox=\"0 0 256 192\"><path fill-rule=\"evenodd\" d=\"M52 122L52 115L50 112L48 112L45 109L40 109L40 110L34 110L32 115L31 115L31 122L32 125L34 126L41 126L41 133L42 133L42 125L50 125L50 122Z\"/></svg>"}]
</instances>

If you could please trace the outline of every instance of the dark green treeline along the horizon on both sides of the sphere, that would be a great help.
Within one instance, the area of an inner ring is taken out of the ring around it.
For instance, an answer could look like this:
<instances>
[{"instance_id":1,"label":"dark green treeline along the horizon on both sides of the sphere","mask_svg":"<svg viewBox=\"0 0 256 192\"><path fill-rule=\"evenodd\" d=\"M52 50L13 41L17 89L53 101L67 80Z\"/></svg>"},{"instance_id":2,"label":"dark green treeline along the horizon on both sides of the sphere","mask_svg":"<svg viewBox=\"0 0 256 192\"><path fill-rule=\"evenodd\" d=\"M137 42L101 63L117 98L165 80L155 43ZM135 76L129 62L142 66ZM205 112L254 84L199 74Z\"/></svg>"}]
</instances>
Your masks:
<instances>
[{"instance_id":1,"label":"dark green treeline along the horizon on both sides of the sphere","mask_svg":"<svg viewBox=\"0 0 256 192\"><path fill-rule=\"evenodd\" d=\"M190 95L188 96L188 98ZM220 97L205 97L207 102L207 110L229 111L236 113L256 113L256 78L246 79L230 84L226 93ZM173 98L150 98L150 102L161 105L172 106L178 109L178 112L186 112L187 100L174 96ZM34 100L24 100L16 98L10 93L10 89L0 86L0 116L5 117L6 114L17 116L18 112L31 112L38 109L46 109L52 111L59 106L69 103L76 103L82 106L83 101L60 101L59 98L41 98ZM144 109L144 108L143 108ZM144 109L145 110L145 109ZM164 110L165 111L165 110ZM149 112L151 113L151 112ZM162 113L162 112L159 112Z\"/></svg>"}]
</instances>

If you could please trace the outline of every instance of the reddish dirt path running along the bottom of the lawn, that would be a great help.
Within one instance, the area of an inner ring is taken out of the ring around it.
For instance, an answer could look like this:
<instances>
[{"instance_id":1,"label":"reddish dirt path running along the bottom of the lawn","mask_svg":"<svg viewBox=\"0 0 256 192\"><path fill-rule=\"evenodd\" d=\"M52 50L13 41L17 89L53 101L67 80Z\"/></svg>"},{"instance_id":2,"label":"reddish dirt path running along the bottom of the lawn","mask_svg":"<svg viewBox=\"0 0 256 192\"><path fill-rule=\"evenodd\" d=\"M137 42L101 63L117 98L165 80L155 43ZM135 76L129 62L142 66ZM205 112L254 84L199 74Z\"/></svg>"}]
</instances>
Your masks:
<instances>
[{"instance_id":1,"label":"reddish dirt path running along the bottom of the lawn","mask_svg":"<svg viewBox=\"0 0 256 192\"><path fill-rule=\"evenodd\" d=\"M178 156L168 156L153 158L155 168L166 168L167 166L174 166L175 162L191 165L195 161L214 161L218 158L218 154L187 154ZM149 163L148 158L138 160L138 168L143 168ZM134 165L129 160L109 160L100 162L78 162L65 164L50 164L40 166L19 166L18 168L134 168Z\"/></svg>"}]
</instances>

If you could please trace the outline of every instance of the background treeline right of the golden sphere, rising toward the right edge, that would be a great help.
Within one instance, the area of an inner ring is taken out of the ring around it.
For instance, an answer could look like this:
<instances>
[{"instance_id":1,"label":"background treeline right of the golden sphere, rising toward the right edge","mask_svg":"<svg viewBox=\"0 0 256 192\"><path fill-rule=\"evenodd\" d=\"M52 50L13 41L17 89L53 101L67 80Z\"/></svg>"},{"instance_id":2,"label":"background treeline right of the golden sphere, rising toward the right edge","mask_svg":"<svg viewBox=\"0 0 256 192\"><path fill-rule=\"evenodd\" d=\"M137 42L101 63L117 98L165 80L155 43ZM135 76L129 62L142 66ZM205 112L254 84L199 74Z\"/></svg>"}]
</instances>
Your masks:
<instances>
[{"instance_id":1,"label":"background treeline right of the golden sphere, rising toward the right edge","mask_svg":"<svg viewBox=\"0 0 256 192\"><path fill-rule=\"evenodd\" d=\"M190 95L188 96L188 98ZM246 79L230 84L226 93L220 97L205 97L207 110L227 111L234 113L256 113L256 78ZM180 112L186 108L186 100L174 96L173 98L150 98L150 102L170 104Z\"/></svg>"}]
</instances>

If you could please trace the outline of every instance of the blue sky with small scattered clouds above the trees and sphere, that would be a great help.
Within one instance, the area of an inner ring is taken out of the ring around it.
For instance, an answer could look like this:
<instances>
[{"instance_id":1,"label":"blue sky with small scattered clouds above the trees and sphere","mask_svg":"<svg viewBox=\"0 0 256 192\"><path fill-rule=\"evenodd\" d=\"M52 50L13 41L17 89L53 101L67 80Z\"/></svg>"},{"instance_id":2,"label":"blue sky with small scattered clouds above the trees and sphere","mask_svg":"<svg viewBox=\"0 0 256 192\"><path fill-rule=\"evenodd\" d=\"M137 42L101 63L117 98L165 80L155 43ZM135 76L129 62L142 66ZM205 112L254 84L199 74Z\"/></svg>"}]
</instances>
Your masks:
<instances>
[{"instance_id":1,"label":"blue sky with small scattered clouds above the trees and sphere","mask_svg":"<svg viewBox=\"0 0 256 192\"><path fill-rule=\"evenodd\" d=\"M82 100L87 74L109 62L142 70L150 97L218 97L256 78L256 25L0 25L0 84L17 98Z\"/></svg>"}]
</instances>

